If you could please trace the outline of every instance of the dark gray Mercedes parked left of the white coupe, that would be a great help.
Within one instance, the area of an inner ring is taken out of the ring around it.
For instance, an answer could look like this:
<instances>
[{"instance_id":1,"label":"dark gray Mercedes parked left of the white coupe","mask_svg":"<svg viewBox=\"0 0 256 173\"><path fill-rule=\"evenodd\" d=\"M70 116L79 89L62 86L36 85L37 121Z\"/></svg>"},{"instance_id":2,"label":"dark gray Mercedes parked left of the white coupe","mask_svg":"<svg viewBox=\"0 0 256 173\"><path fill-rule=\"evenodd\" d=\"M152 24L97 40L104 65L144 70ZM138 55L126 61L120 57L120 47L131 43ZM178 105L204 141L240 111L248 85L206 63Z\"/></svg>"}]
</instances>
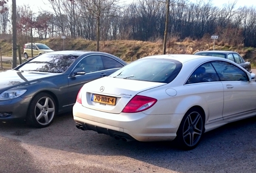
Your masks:
<instances>
[{"instance_id":1,"label":"dark gray Mercedes parked left of the white coupe","mask_svg":"<svg viewBox=\"0 0 256 173\"><path fill-rule=\"evenodd\" d=\"M56 51L0 72L0 121L24 119L47 127L57 114L72 111L83 84L125 65L103 52Z\"/></svg>"}]
</instances>

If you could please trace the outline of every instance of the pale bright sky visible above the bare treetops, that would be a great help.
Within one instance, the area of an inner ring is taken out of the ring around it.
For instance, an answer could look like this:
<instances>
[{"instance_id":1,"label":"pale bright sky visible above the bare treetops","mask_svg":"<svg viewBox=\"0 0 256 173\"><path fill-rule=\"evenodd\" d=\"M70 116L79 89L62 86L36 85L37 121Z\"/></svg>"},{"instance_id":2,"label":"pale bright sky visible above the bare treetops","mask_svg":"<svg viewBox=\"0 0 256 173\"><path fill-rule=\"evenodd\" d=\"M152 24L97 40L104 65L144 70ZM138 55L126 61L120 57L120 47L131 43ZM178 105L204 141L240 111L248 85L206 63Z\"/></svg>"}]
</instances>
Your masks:
<instances>
[{"instance_id":1,"label":"pale bright sky visible above the bare treetops","mask_svg":"<svg viewBox=\"0 0 256 173\"><path fill-rule=\"evenodd\" d=\"M120 0L120 2L126 2L130 3L133 2L133 0ZM195 2L196 0L190 0L191 2ZM223 4L228 4L228 2L233 2L233 0L213 0L213 4L216 6L222 6ZM9 0L9 3L11 0ZM17 6L21 6L23 4L31 6L35 11L43 8L47 9L47 5L44 4L44 2L47 2L47 0L16 0ZM236 7L238 8L239 6L254 6L256 7L256 0L237 0Z\"/></svg>"}]
</instances>

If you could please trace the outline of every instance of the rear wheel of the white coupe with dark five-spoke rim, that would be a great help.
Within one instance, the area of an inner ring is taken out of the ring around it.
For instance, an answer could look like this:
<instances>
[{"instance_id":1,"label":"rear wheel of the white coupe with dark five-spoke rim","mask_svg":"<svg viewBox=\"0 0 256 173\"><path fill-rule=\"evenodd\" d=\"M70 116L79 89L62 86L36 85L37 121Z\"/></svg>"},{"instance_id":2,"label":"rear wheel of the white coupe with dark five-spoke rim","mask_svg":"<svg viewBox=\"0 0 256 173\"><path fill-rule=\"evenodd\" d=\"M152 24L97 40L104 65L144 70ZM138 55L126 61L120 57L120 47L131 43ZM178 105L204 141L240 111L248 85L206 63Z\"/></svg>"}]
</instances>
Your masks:
<instances>
[{"instance_id":1,"label":"rear wheel of the white coupe with dark five-spoke rim","mask_svg":"<svg viewBox=\"0 0 256 173\"><path fill-rule=\"evenodd\" d=\"M192 108L184 115L177 131L175 143L184 150L194 149L204 133L204 115L200 109Z\"/></svg>"}]
</instances>

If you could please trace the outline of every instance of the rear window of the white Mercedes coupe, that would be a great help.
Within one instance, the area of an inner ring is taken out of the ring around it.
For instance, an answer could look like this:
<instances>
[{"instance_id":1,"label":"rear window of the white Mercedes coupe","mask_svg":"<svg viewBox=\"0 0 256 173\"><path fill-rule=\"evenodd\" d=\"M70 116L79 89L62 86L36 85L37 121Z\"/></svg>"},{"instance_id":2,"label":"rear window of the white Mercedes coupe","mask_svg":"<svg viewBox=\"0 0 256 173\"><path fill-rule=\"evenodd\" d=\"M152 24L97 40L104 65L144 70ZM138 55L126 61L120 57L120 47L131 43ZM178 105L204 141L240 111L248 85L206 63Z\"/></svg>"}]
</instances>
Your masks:
<instances>
[{"instance_id":1,"label":"rear window of the white Mercedes coupe","mask_svg":"<svg viewBox=\"0 0 256 173\"><path fill-rule=\"evenodd\" d=\"M182 63L177 60L149 58L134 61L109 77L150 82L171 82L180 72Z\"/></svg>"}]
</instances>

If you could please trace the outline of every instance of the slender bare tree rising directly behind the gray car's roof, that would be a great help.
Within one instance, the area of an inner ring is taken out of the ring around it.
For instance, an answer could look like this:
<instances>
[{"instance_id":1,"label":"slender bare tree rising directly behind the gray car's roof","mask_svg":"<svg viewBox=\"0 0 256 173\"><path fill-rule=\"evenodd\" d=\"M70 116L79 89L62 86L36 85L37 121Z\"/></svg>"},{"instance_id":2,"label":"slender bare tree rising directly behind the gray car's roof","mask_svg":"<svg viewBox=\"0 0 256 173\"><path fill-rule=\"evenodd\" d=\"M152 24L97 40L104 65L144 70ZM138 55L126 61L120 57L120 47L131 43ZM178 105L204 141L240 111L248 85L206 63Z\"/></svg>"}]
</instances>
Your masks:
<instances>
[{"instance_id":1,"label":"slender bare tree rising directly behind the gray car's roof","mask_svg":"<svg viewBox=\"0 0 256 173\"><path fill-rule=\"evenodd\" d=\"M97 51L99 51L101 18L113 16L111 12L118 9L119 0L79 0L79 2L82 8L86 8L97 19Z\"/></svg>"}]
</instances>

